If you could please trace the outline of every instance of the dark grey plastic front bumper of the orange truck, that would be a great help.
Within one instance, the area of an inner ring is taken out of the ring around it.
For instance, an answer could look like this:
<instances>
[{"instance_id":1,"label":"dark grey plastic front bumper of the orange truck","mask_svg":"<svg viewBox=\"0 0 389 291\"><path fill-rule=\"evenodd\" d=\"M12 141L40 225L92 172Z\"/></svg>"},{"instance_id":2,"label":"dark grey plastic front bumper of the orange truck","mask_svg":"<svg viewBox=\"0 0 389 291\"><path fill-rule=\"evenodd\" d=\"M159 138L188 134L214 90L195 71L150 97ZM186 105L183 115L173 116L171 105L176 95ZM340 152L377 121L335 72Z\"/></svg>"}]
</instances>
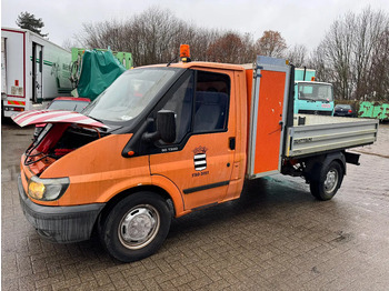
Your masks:
<instances>
[{"instance_id":1,"label":"dark grey plastic front bumper of the orange truck","mask_svg":"<svg viewBox=\"0 0 389 291\"><path fill-rule=\"evenodd\" d=\"M27 220L40 235L60 243L88 240L100 211L106 205L104 203L74 207L37 204L27 197L20 175L18 189L20 205Z\"/></svg>"}]
</instances>

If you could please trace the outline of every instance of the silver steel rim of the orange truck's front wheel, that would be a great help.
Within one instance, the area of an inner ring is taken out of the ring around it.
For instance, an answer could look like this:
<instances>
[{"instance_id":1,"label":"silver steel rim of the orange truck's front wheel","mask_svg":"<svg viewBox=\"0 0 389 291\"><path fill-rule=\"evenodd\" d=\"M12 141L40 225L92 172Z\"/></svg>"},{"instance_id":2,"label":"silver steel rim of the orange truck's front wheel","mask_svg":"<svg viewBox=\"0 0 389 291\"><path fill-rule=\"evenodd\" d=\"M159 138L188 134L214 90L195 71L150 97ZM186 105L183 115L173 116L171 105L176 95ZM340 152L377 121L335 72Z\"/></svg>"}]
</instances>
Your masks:
<instances>
[{"instance_id":1,"label":"silver steel rim of the orange truck's front wheel","mask_svg":"<svg viewBox=\"0 0 389 291\"><path fill-rule=\"evenodd\" d=\"M160 215L154 207L137 205L121 219L118 227L119 240L128 249L141 249L156 238L160 223Z\"/></svg>"}]
</instances>

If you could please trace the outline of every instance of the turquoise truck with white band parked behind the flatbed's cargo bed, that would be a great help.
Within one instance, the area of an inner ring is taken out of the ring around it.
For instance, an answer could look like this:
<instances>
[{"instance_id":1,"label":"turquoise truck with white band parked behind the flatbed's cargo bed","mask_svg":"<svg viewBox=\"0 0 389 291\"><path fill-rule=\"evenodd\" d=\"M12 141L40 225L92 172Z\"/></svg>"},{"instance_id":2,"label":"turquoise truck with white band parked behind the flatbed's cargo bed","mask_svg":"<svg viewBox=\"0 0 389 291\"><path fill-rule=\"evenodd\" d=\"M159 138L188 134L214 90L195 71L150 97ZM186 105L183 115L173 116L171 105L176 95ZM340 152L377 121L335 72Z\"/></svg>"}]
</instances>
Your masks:
<instances>
[{"instance_id":1,"label":"turquoise truck with white band parked behind the flatbed's cargo bed","mask_svg":"<svg viewBox=\"0 0 389 291\"><path fill-rule=\"evenodd\" d=\"M315 70L295 69L295 114L333 116L332 84L315 78Z\"/></svg>"}]
</instances>

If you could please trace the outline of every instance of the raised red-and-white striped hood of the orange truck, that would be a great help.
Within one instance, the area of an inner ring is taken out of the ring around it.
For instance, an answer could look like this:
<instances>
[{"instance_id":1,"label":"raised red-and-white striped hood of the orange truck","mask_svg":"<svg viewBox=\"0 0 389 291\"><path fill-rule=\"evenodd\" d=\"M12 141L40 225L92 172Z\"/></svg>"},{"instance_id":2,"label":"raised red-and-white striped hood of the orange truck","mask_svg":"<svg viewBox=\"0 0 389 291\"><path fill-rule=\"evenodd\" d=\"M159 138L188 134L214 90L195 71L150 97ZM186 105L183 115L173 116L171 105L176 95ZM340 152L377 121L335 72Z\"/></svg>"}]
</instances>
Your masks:
<instances>
[{"instance_id":1,"label":"raised red-and-white striped hood of the orange truck","mask_svg":"<svg viewBox=\"0 0 389 291\"><path fill-rule=\"evenodd\" d=\"M81 113L64 110L31 110L12 117L20 127L40 123L76 123L91 128L108 128L103 123Z\"/></svg>"}]
</instances>

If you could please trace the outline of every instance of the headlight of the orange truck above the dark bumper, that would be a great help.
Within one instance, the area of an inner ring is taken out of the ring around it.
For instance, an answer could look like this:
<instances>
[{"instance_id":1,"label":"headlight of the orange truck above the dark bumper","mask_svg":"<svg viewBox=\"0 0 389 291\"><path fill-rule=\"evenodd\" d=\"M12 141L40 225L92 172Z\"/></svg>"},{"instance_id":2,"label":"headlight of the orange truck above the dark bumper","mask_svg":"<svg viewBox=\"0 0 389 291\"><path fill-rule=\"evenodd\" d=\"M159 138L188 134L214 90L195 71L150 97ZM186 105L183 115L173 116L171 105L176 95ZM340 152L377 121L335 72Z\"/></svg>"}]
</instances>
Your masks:
<instances>
[{"instance_id":1,"label":"headlight of the orange truck above the dark bumper","mask_svg":"<svg viewBox=\"0 0 389 291\"><path fill-rule=\"evenodd\" d=\"M37 200L52 201L59 199L69 187L69 178L40 179L31 177L28 193Z\"/></svg>"}]
</instances>

